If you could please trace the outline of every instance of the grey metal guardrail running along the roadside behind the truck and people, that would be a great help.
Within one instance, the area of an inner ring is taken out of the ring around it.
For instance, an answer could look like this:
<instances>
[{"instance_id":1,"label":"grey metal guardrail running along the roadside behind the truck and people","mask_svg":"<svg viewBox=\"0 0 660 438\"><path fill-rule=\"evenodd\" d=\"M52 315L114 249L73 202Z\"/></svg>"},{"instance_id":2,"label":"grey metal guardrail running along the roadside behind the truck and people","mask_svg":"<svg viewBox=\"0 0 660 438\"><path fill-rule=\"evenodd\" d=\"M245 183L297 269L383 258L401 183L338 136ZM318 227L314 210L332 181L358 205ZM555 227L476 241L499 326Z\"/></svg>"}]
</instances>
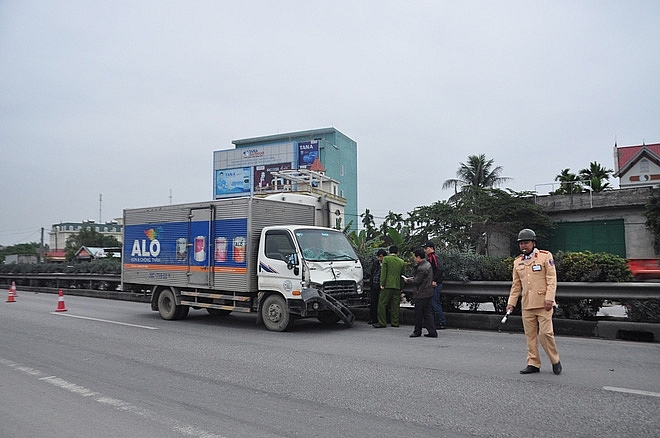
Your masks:
<instances>
[{"instance_id":1,"label":"grey metal guardrail running along the roadside behind the truck and people","mask_svg":"<svg viewBox=\"0 0 660 438\"><path fill-rule=\"evenodd\" d=\"M0 274L0 283L9 284L12 280L48 280L65 282L89 282L90 289L94 282L120 283L119 274ZM66 287L66 286L62 286ZM450 296L501 296L509 295L509 281L445 281L442 288L444 295ZM368 284L365 285L368 290ZM405 289L412 291L412 289ZM557 298L603 299L603 300L648 300L660 299L660 283L656 282L626 282L626 283L557 283Z\"/></svg>"}]
</instances>

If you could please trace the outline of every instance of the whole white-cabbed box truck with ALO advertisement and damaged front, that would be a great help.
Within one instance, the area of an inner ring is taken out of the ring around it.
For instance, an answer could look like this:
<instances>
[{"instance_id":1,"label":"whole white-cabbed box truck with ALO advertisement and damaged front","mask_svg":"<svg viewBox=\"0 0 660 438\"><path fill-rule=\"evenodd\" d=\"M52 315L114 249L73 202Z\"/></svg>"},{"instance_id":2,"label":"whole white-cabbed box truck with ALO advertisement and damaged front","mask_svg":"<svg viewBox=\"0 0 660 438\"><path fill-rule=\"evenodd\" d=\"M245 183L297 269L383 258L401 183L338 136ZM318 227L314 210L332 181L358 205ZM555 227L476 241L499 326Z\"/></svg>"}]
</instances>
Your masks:
<instances>
[{"instance_id":1,"label":"whole white-cabbed box truck with ALO advertisement and damaged front","mask_svg":"<svg viewBox=\"0 0 660 438\"><path fill-rule=\"evenodd\" d=\"M122 290L150 291L167 320L189 309L256 312L267 329L297 318L350 327L362 302L362 265L315 207L260 198L124 210Z\"/></svg>"}]
</instances>

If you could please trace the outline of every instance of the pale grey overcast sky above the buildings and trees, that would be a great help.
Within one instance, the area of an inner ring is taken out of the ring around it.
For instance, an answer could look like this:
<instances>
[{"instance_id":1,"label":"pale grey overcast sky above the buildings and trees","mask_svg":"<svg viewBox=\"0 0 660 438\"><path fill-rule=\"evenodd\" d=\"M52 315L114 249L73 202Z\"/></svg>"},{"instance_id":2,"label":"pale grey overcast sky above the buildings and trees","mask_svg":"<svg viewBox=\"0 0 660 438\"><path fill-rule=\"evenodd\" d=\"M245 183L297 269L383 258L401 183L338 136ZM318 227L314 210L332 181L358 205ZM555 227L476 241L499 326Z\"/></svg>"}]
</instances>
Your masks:
<instances>
[{"instance_id":1,"label":"pale grey overcast sky above the buildings and trees","mask_svg":"<svg viewBox=\"0 0 660 438\"><path fill-rule=\"evenodd\" d=\"M447 199L469 155L547 193L660 142L659 23L657 0L2 0L0 244L212 199L213 151L325 127L377 218Z\"/></svg>"}]
</instances>

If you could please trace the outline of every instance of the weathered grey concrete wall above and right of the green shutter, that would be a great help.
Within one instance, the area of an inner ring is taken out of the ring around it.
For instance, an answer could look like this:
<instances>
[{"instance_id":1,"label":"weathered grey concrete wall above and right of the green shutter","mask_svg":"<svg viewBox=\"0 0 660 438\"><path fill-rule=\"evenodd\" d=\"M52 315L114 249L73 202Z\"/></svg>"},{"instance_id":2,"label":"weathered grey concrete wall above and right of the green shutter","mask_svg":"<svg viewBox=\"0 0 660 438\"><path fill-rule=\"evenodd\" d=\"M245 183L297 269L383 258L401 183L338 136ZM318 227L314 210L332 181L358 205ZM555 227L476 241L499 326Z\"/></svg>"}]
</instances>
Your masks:
<instances>
[{"instance_id":1,"label":"weathered grey concrete wall above and right of the green shutter","mask_svg":"<svg viewBox=\"0 0 660 438\"><path fill-rule=\"evenodd\" d=\"M537 196L536 204L554 222L579 222L623 219L626 257L657 258L653 234L646 228L644 208L651 197L651 187L609 190L600 193Z\"/></svg>"}]
</instances>

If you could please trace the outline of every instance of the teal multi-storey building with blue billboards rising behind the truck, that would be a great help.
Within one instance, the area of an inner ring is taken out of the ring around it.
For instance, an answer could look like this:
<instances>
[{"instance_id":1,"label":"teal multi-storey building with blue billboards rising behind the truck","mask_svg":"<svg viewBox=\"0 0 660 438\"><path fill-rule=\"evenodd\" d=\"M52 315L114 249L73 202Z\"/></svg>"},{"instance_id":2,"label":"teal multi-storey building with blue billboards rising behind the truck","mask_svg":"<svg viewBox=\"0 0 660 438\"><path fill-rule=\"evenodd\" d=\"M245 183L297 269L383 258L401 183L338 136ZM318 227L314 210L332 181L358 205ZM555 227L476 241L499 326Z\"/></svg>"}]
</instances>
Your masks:
<instances>
[{"instance_id":1,"label":"teal multi-storey building with blue billboards rising behind the truck","mask_svg":"<svg viewBox=\"0 0 660 438\"><path fill-rule=\"evenodd\" d=\"M357 143L335 128L234 140L213 154L213 198L304 193L357 229Z\"/></svg>"}]
</instances>

